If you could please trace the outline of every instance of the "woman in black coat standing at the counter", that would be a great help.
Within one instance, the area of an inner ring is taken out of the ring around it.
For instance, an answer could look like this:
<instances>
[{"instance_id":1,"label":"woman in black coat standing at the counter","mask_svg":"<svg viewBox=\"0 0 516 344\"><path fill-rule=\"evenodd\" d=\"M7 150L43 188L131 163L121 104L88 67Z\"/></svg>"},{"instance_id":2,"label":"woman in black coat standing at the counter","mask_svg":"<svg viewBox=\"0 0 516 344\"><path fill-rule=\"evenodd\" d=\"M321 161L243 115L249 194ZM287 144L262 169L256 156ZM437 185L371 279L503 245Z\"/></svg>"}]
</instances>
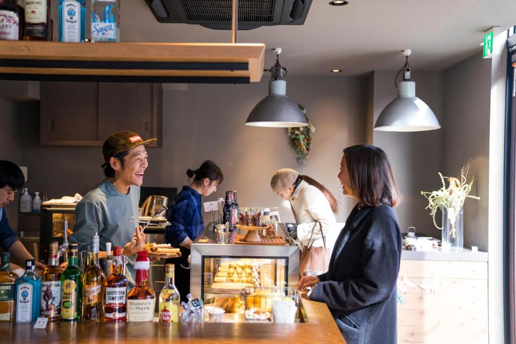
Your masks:
<instances>
[{"instance_id":1,"label":"woman in black coat standing at the counter","mask_svg":"<svg viewBox=\"0 0 516 344\"><path fill-rule=\"evenodd\" d=\"M346 148L338 178L357 200L335 242L328 272L305 276L298 289L325 302L348 344L396 343L396 280L401 234L392 207L400 201L385 153Z\"/></svg>"}]
</instances>

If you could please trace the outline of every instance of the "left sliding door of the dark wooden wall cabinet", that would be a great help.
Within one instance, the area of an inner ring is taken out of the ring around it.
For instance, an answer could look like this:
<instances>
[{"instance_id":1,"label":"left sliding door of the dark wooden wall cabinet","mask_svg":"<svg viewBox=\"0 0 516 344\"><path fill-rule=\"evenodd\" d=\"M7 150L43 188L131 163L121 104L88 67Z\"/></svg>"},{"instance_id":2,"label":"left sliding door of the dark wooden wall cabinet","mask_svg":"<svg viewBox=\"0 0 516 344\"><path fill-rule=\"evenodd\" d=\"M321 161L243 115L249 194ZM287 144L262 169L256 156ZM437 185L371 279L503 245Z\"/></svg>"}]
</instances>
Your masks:
<instances>
[{"instance_id":1,"label":"left sliding door of the dark wooden wall cabinet","mask_svg":"<svg viewBox=\"0 0 516 344\"><path fill-rule=\"evenodd\" d=\"M40 88L41 144L90 145L99 140L97 83L44 82Z\"/></svg>"}]
</instances>

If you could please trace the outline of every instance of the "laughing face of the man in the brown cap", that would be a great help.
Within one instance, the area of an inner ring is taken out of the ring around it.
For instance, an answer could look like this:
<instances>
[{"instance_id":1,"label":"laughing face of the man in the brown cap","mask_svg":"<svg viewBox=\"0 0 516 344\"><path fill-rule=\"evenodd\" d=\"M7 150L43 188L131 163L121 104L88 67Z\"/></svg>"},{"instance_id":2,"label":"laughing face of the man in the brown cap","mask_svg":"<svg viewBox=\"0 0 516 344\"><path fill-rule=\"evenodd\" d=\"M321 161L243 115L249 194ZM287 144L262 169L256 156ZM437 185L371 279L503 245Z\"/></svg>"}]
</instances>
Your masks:
<instances>
[{"instance_id":1,"label":"laughing face of the man in the brown cap","mask_svg":"<svg viewBox=\"0 0 516 344\"><path fill-rule=\"evenodd\" d=\"M117 158L110 158L109 161L111 167L116 171L117 182L122 182L125 185L141 186L143 184L144 171L149 166L145 146L140 144L133 147L123 159L124 166Z\"/></svg>"}]
</instances>

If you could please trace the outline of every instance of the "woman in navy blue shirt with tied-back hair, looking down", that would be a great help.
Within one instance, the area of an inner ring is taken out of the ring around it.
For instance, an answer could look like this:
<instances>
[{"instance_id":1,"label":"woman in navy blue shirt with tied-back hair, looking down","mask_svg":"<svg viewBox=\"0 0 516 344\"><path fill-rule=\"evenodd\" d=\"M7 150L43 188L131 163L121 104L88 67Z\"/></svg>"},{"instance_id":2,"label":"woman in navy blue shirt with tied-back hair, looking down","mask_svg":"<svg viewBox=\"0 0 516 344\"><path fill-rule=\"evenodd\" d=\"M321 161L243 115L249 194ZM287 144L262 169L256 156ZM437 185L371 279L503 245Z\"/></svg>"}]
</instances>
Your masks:
<instances>
[{"instance_id":1,"label":"woman in navy blue shirt with tied-back hair, looking down","mask_svg":"<svg viewBox=\"0 0 516 344\"><path fill-rule=\"evenodd\" d=\"M204 229L202 219L201 196L208 196L217 191L224 176L215 162L206 160L197 170L186 171L188 178L193 178L189 186L183 189L174 199L174 205L169 209L167 220L171 223L165 230L165 242L171 243L181 250L179 258L169 258L166 264L175 266L175 286L178 288L182 301L187 301L190 293L190 270L188 266L190 245Z\"/></svg>"}]
</instances>

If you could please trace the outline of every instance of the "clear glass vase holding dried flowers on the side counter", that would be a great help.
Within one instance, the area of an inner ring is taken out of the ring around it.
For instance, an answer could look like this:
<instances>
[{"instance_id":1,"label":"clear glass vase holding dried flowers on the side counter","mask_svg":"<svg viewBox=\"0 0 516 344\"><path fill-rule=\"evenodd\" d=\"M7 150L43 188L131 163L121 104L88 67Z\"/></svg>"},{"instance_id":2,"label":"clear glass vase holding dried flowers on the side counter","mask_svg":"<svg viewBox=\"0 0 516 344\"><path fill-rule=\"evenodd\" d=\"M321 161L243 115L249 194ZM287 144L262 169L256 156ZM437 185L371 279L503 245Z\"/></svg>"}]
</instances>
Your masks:
<instances>
[{"instance_id":1,"label":"clear glass vase holding dried flowers on the side counter","mask_svg":"<svg viewBox=\"0 0 516 344\"><path fill-rule=\"evenodd\" d=\"M443 208L441 249L443 251L462 250L464 247L464 214L461 208Z\"/></svg>"}]
</instances>

